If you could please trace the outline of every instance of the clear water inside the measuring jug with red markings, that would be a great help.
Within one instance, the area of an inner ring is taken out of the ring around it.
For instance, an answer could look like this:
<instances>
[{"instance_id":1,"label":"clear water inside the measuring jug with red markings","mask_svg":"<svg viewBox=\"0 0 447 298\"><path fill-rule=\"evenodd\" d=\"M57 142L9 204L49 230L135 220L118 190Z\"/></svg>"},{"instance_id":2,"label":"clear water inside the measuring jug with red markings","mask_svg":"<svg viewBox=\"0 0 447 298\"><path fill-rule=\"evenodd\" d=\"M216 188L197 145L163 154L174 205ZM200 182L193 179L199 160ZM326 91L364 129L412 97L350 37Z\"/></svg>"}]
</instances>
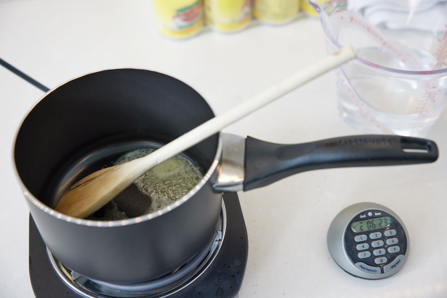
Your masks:
<instances>
[{"instance_id":1,"label":"clear water inside the measuring jug with red markings","mask_svg":"<svg viewBox=\"0 0 447 298\"><path fill-rule=\"evenodd\" d=\"M427 51L411 53L417 66L411 59L409 62L398 59L379 48L358 49L357 54L367 61L394 69L440 68L437 59ZM445 78L391 77L354 63L348 63L342 69L348 81L337 80L339 112L346 122L364 132L423 136L439 118L438 105L445 105L444 100L436 103L437 97L442 97L440 87L446 86ZM341 73L338 75L342 76Z\"/></svg>"}]
</instances>

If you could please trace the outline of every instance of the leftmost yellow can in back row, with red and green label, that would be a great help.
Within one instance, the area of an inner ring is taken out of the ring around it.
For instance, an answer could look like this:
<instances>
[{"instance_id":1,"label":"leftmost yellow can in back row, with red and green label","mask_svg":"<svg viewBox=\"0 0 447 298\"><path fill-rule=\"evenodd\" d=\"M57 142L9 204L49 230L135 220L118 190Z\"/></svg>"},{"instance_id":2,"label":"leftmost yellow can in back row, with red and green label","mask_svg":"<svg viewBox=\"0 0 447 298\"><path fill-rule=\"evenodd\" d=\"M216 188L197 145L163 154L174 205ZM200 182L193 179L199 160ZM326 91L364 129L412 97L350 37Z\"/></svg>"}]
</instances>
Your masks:
<instances>
[{"instance_id":1,"label":"leftmost yellow can in back row, with red and green label","mask_svg":"<svg viewBox=\"0 0 447 298\"><path fill-rule=\"evenodd\" d=\"M188 38L203 27L201 0L154 0L156 27L169 38Z\"/></svg>"}]
</instances>

